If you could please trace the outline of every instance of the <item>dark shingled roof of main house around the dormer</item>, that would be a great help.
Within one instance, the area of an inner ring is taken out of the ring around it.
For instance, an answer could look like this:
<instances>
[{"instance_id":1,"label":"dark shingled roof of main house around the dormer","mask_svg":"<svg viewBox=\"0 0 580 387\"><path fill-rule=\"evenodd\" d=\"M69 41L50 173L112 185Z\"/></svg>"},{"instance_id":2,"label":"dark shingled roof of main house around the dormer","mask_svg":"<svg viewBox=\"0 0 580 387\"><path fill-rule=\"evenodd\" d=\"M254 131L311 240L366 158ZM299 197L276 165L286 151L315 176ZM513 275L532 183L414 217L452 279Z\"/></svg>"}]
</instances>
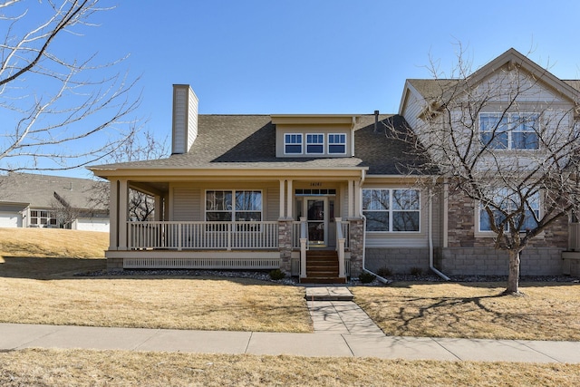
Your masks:
<instances>
[{"instance_id":1,"label":"dark shingled roof of main house around the dormer","mask_svg":"<svg viewBox=\"0 0 580 387\"><path fill-rule=\"evenodd\" d=\"M408 127L401 116L393 117L382 114L379 120ZM397 164L408 158L405 146L387 139L384 129L372 133L373 128L373 114L359 116L354 126L354 157L276 158L271 116L200 114L198 137L188 153L90 169L98 176L108 176L113 170L118 174L123 169L368 169L371 174L400 174Z\"/></svg>"}]
</instances>

